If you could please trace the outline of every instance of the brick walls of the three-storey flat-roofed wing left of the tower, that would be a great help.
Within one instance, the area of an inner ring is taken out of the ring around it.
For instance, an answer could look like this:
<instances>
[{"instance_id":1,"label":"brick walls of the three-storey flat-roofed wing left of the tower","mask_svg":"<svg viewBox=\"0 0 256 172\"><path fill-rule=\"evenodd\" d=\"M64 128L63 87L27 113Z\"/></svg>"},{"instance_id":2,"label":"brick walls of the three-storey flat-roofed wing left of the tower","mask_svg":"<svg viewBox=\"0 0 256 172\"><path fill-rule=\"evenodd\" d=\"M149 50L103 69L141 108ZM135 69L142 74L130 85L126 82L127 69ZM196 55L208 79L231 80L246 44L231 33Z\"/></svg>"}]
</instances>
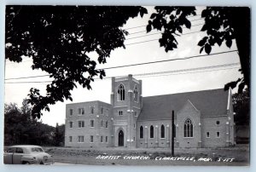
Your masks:
<instances>
[{"instance_id":1,"label":"brick walls of the three-storey flat-roofed wing left of the tower","mask_svg":"<svg viewBox=\"0 0 256 172\"><path fill-rule=\"evenodd\" d=\"M93 113L91 113L92 107ZM84 114L79 114L79 108L84 108ZM73 115L70 115L70 109L73 109ZM66 106L65 146L113 146L112 114L112 106L101 101L68 104ZM94 127L90 127L90 120L94 120ZM84 121L84 127L79 128L79 121ZM69 122L73 122L73 128L70 128ZM108 128L106 128L106 122L108 122ZM69 140L70 136L73 137L72 142ZM79 136L84 136L84 142L79 142ZM90 142L90 136L93 136L93 142Z\"/></svg>"}]
</instances>

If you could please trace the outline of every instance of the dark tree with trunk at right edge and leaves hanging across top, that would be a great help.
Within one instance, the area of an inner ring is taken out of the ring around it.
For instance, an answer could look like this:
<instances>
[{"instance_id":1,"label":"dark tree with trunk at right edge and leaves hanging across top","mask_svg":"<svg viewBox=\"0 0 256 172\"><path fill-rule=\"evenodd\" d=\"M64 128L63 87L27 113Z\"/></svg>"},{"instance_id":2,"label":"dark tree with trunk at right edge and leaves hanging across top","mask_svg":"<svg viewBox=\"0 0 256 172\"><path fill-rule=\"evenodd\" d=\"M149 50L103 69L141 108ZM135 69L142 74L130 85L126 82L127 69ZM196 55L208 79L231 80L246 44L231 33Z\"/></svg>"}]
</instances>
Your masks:
<instances>
[{"instance_id":1,"label":"dark tree with trunk at right edge and leaves hanging across top","mask_svg":"<svg viewBox=\"0 0 256 172\"><path fill-rule=\"evenodd\" d=\"M147 32L153 29L163 31L159 39L160 47L164 47L166 52L177 49L177 40L174 36L183 33L183 26L191 27L188 19L191 15L196 15L195 7L155 7L156 13L151 14L148 20ZM210 54L212 46L225 43L231 47L234 40L238 49L241 61L242 78L225 84L224 89L234 89L239 83L238 93L247 86L250 91L250 9L246 7L207 7L201 13L205 23L201 28L202 32L207 32L207 37L202 37L198 43L201 46L200 53L205 51Z\"/></svg>"}]
</instances>

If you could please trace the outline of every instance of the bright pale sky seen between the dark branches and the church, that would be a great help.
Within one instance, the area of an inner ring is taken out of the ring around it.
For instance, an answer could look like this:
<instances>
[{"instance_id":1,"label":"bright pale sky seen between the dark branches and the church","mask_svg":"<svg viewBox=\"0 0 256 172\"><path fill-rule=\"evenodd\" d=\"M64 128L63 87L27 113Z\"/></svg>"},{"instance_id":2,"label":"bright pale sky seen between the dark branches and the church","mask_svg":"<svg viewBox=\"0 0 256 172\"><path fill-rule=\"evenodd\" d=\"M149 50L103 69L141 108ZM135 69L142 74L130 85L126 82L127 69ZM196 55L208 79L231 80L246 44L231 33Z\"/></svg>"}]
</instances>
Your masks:
<instances>
[{"instance_id":1,"label":"bright pale sky seen between the dark branches and the church","mask_svg":"<svg viewBox=\"0 0 256 172\"><path fill-rule=\"evenodd\" d=\"M200 15L189 18L189 20L191 20L192 27L190 30L184 29L183 31L183 33L189 34L184 34L181 37L176 37L178 42L178 48L173 50L172 52L166 53L164 48L160 48L158 40L148 41L160 38L160 34L143 37L146 36L145 25L148 24L150 14L154 12L153 7L147 7L147 9L148 14L143 16L143 19L141 17L137 17L135 19L128 20L128 22L124 26L124 28L128 28L127 31L131 34L126 37L126 48L119 48L113 50L113 52L110 55L110 58L108 58L107 60L107 64L99 65L98 68L124 66L159 60L172 61L154 63L150 65L109 69L106 70L107 77L127 76L128 74L136 76L137 74L147 74L152 72L169 72L166 74L145 75L143 77L135 77L137 79L143 80L143 97L151 95L167 95L205 89L220 89L224 88L225 83L235 81L238 77L241 77L241 73L238 72L239 65L229 67L228 69L227 67L218 68L218 70L210 68L210 66L240 63L237 52L218 55L206 55L203 57L193 58L189 60L173 60L183 59L185 57L200 54L200 47L197 46L197 43L201 40L202 37L206 36L205 32L199 32L202 26L200 24L204 22L204 20L201 19ZM197 14L201 14L202 9L203 7L197 7ZM152 33L156 32L150 32L148 34ZM236 43L234 41L231 48L227 48L223 43L223 46L221 47L215 46L212 49L211 53L214 54L218 52L225 52L231 50L236 50ZM95 53L90 53L88 55L91 58L96 59ZM5 79L13 77L31 77L47 74L39 70L33 71L31 66L31 59L26 57L24 58L23 62L19 64L6 61ZM207 66L207 70L170 73L170 71ZM22 100L26 98L26 95L29 93L29 89L31 89L32 87L40 89L42 93L45 93L44 90L46 88L47 83L10 83L24 81L49 81L49 77L6 80L4 89L5 103L9 104L10 102L12 102L16 103L18 106L21 106ZM91 83L91 87L92 90L83 89L81 86L79 86L77 89L73 89L73 102L70 100L66 100L63 103L58 102L54 106L49 106L50 112L44 112L44 115L41 118L42 122L52 126L55 126L56 123L65 123L65 110L66 105L68 103L91 100L102 100L104 102L110 103L110 79L97 79L95 83ZM233 90L233 92L236 92L236 89Z\"/></svg>"}]
</instances>

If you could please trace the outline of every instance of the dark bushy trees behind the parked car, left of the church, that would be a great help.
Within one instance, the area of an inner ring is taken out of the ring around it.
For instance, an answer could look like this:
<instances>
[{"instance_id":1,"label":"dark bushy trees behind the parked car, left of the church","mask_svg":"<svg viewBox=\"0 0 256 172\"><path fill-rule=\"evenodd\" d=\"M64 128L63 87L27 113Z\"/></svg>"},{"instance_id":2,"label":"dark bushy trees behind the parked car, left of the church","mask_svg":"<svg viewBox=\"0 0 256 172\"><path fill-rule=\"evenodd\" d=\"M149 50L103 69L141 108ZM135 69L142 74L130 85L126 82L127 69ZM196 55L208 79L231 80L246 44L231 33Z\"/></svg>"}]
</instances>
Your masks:
<instances>
[{"instance_id":1,"label":"dark bushy trees behind the parked car, left of the church","mask_svg":"<svg viewBox=\"0 0 256 172\"><path fill-rule=\"evenodd\" d=\"M23 101L21 108L13 103L4 105L5 145L53 145L55 128L38 122L37 119L32 118L31 112L32 109L26 100Z\"/></svg>"}]
</instances>

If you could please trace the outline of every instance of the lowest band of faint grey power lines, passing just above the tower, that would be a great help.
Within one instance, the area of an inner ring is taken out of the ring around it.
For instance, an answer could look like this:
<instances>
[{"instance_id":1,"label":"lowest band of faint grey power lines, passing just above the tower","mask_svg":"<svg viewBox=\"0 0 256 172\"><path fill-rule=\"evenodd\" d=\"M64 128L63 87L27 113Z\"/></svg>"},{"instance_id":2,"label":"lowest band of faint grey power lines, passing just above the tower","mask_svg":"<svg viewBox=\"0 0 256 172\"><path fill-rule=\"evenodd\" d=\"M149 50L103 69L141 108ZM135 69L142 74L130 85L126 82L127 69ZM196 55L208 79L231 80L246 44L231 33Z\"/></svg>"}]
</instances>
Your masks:
<instances>
[{"instance_id":1,"label":"lowest band of faint grey power lines, passing just above the tower","mask_svg":"<svg viewBox=\"0 0 256 172\"><path fill-rule=\"evenodd\" d=\"M204 67L196 67L189 69L181 69L181 70L172 70L166 72L149 72L149 73L139 73L134 74L134 77L148 77L148 76L165 76L165 75L180 75L180 74L188 74L188 73L196 73L196 72L212 72L212 71L220 71L220 70L228 70L228 69L236 69L239 68L240 63L231 63L217 66L204 66ZM224 69L218 69L222 67L229 67ZM211 69L211 70L209 70ZM205 71L207 70L207 71ZM115 77L126 77L126 76L115 76ZM103 79L110 79L112 77L103 77ZM100 80L100 78L95 78L95 80ZM50 83L52 81L25 81L25 82L7 82L7 83Z\"/></svg>"}]
</instances>

